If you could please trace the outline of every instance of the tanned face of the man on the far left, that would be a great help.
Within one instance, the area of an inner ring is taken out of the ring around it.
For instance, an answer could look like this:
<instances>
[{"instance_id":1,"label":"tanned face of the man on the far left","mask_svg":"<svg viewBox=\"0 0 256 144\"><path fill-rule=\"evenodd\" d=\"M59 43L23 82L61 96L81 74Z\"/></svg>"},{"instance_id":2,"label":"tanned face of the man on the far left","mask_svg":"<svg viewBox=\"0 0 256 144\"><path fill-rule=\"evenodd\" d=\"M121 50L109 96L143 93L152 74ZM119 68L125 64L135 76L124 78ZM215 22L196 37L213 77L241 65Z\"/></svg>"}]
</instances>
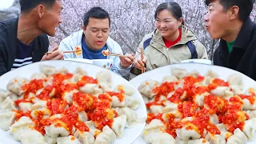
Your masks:
<instances>
[{"instance_id":1,"label":"tanned face of the man on the far left","mask_svg":"<svg viewBox=\"0 0 256 144\"><path fill-rule=\"evenodd\" d=\"M53 37L57 31L58 25L62 23L62 9L62 0L56 0L54 6L50 9L47 9L45 6L41 6L41 8L39 8L39 15L41 14L41 18L38 20L39 29L41 29L45 34Z\"/></svg>"}]
</instances>

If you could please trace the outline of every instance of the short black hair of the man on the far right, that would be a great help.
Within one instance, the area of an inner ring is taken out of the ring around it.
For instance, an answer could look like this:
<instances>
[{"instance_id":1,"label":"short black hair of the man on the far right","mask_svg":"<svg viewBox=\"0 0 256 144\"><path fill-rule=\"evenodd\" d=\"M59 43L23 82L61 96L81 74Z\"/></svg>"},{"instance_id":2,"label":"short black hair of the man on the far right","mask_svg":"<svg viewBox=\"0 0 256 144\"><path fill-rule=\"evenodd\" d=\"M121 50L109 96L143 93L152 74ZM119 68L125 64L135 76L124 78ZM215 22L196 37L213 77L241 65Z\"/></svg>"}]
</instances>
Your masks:
<instances>
[{"instance_id":1,"label":"short black hair of the man on the far right","mask_svg":"<svg viewBox=\"0 0 256 144\"><path fill-rule=\"evenodd\" d=\"M216 0L206 0L206 5L208 6L211 2ZM224 11L230 9L232 6L239 7L238 17L244 22L247 18L250 17L250 13L254 8L255 0L218 0L219 3L223 6Z\"/></svg>"}]
</instances>

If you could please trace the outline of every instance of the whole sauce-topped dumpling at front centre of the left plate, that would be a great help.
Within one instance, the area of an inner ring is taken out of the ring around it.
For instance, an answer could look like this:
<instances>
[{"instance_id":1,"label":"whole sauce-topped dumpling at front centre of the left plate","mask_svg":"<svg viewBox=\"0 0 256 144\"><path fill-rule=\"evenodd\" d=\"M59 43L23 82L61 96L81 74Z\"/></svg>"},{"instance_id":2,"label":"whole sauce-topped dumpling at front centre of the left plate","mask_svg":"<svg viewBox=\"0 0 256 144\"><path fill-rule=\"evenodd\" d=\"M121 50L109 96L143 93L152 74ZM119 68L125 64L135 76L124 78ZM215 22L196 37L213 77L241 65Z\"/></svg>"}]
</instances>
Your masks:
<instances>
[{"instance_id":1,"label":"whole sauce-topped dumpling at front centre of the left plate","mask_svg":"<svg viewBox=\"0 0 256 144\"><path fill-rule=\"evenodd\" d=\"M60 125L56 127L56 125ZM53 122L50 126L46 126L46 134L49 135L51 138L57 138L58 136L67 137L69 136L70 132L66 130L66 124L59 120Z\"/></svg>"}]
</instances>

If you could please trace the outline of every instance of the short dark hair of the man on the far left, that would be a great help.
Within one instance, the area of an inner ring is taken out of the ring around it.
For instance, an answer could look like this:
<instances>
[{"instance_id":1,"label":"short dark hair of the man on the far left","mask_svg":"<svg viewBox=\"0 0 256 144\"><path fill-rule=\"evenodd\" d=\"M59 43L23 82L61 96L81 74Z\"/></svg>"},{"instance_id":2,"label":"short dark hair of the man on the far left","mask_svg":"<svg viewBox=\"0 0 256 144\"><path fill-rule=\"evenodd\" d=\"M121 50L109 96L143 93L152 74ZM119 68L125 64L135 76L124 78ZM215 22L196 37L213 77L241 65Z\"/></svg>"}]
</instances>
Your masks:
<instances>
[{"instance_id":1,"label":"short dark hair of the man on the far left","mask_svg":"<svg viewBox=\"0 0 256 144\"><path fill-rule=\"evenodd\" d=\"M43 4L50 9L52 6L54 6L56 1L57 0L19 0L19 4L21 6L21 12L27 13L40 4Z\"/></svg>"}]
</instances>

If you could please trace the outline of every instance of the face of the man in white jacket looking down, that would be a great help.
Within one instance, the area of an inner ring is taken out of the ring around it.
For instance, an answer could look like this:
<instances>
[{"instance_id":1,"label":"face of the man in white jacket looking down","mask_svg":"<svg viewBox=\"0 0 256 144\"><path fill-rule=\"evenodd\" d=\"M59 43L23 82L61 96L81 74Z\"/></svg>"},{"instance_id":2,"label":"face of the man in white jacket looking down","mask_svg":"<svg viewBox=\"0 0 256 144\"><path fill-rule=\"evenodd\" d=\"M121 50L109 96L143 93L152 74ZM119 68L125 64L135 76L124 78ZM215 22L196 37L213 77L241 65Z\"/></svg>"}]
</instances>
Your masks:
<instances>
[{"instance_id":1,"label":"face of the man in white jacket looking down","mask_svg":"<svg viewBox=\"0 0 256 144\"><path fill-rule=\"evenodd\" d=\"M91 49L99 50L106 44L110 35L110 21L108 18L89 18L87 26L82 27L86 44Z\"/></svg>"}]
</instances>

